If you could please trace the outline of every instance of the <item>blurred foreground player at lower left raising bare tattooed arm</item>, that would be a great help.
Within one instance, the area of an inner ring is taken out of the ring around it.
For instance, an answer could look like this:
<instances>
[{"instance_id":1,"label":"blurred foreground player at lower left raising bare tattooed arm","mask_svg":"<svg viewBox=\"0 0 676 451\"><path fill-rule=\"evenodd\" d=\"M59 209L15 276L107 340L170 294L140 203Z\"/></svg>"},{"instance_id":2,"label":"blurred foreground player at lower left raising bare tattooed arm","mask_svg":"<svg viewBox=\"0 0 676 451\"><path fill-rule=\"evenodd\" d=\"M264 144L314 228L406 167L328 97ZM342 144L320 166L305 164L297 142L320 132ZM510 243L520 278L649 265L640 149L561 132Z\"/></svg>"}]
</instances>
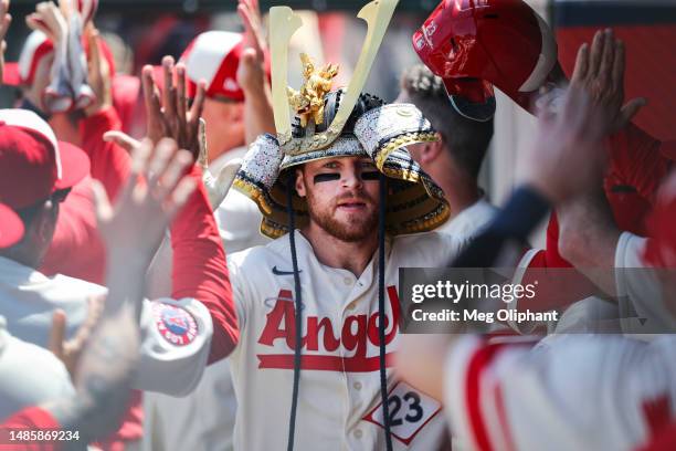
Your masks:
<instances>
[{"instance_id":1,"label":"blurred foreground player at lower left raising bare tattooed arm","mask_svg":"<svg viewBox=\"0 0 676 451\"><path fill-rule=\"evenodd\" d=\"M126 187L134 193L123 196L114 209L108 203L105 191L97 188L97 216L102 237L107 249L114 250L108 253L109 292L103 313L95 328L78 331L78 339L85 342L84 346L82 343L80 345L64 343L67 318L62 311L54 314L50 336L50 349L70 365L68 370L73 374L76 391L70 384L63 364L60 361L55 364L57 360L54 355L11 337L6 331L0 332L2 406L6 409L10 408L9 412L4 411L0 416L6 418L27 405L36 406L14 415L7 421L9 424L0 428L29 427L28 432L32 430L31 433L42 428L61 430L64 432L64 441L68 448L77 445L84 448L87 442L104 438L118 426L120 416L127 407L131 375L138 360L141 338L138 313L142 302L145 272L138 271L137 262L140 266L144 264L147 266L171 217L188 200L196 185L191 177L178 182L182 177L181 166L184 164L178 158L188 161L187 153L177 154L177 159L172 159L173 161L162 168L160 158L165 158L162 154L167 149L162 150L162 146L166 145L167 143L163 143L158 146L151 158L147 158L150 150L148 145L135 149L133 156L136 174L148 179L150 178L148 168L154 167L163 180L166 192L158 189L154 189L154 192L146 190L140 177L134 178ZM8 214L11 214L11 211ZM129 228L135 220L144 217L145 228L136 230ZM13 227L21 226L22 222L19 220ZM7 232L10 231L8 229L11 227L3 221L2 235L8 235ZM120 247L120 238L125 240L126 245ZM6 241L0 245L13 244ZM82 354L77 357L77 361L71 365L73 353ZM114 367L108 365L110 360L115 361ZM29 361L31 364L27 365ZM49 375L46 380L45 374ZM35 379L38 375L41 380ZM35 380L31 384L32 379ZM57 390L57 384L63 384L64 388L70 388L70 391ZM29 398L27 395L32 399L27 399ZM32 426L25 424L35 417L38 422L32 421ZM3 433L2 440L9 440L8 434L11 432L18 431L0 432ZM66 438L68 434L75 437Z\"/></svg>"}]
</instances>

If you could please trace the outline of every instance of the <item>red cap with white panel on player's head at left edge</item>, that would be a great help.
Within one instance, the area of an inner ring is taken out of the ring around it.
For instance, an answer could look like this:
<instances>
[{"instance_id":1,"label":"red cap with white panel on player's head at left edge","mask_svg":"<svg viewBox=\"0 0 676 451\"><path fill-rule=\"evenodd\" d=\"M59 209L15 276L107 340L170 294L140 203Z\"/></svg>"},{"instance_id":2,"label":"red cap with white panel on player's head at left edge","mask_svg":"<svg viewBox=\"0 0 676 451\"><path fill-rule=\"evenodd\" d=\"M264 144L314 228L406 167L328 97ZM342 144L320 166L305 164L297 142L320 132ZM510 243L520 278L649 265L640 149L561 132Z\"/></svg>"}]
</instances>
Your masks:
<instances>
[{"instance_id":1,"label":"red cap with white panel on player's head at left edge","mask_svg":"<svg viewBox=\"0 0 676 451\"><path fill-rule=\"evenodd\" d=\"M0 109L0 202L13 210L73 187L89 172L80 148L57 141L52 128L27 109ZM0 213L0 223L6 217Z\"/></svg>"}]
</instances>

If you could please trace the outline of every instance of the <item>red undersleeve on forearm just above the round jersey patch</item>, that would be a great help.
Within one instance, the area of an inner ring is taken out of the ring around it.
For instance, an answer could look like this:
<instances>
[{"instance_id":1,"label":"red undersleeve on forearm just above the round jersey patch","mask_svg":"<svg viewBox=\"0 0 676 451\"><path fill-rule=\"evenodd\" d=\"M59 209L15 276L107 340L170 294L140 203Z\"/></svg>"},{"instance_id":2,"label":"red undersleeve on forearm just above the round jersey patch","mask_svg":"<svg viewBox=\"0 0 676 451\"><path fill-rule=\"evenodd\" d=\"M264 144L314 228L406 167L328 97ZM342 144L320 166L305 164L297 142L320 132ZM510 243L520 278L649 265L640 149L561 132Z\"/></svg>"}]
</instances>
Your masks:
<instances>
[{"instance_id":1,"label":"red undersleeve on forearm just above the round jersey patch","mask_svg":"<svg viewBox=\"0 0 676 451\"><path fill-rule=\"evenodd\" d=\"M191 177L201 177L198 167ZM209 361L213 363L234 349L239 327L225 251L201 182L171 226L171 247L172 297L192 297L209 310L213 322Z\"/></svg>"}]
</instances>

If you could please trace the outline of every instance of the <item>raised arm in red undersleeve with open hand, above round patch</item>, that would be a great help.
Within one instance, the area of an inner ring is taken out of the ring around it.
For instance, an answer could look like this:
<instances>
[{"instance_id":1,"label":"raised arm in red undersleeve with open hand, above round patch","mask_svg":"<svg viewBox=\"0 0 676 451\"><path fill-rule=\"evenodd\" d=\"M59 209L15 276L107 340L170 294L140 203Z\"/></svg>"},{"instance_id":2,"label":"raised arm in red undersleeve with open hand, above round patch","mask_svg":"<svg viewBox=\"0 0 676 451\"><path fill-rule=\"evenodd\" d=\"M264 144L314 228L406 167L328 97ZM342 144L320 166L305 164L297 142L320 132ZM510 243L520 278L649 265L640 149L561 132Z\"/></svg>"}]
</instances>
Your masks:
<instances>
[{"instance_id":1,"label":"raised arm in red undersleeve with open hand, above round patch","mask_svg":"<svg viewBox=\"0 0 676 451\"><path fill-rule=\"evenodd\" d=\"M199 120L201 106L193 104L187 109L186 71L182 64L175 67L173 61L166 57L163 70L166 85L161 95L151 73L144 72L149 130L154 136L167 134L179 137L197 156L202 146ZM198 93L198 97L203 98L203 83L199 84L199 90L202 93ZM183 114L179 115L178 112L181 111ZM110 134L108 137L129 148L136 145L133 139L120 133ZM202 178L201 168L192 167L189 176L197 182L198 188L171 226L171 297L198 300L209 311L214 326L209 361L213 363L234 349L239 339L239 327L225 251L213 218L208 191L204 185L199 182ZM223 181L220 176L219 179ZM168 279L168 274L163 274L167 262L162 261L168 258L167 252L160 252L159 261L154 262L154 266L157 265L162 273L159 274L159 279Z\"/></svg>"}]
</instances>

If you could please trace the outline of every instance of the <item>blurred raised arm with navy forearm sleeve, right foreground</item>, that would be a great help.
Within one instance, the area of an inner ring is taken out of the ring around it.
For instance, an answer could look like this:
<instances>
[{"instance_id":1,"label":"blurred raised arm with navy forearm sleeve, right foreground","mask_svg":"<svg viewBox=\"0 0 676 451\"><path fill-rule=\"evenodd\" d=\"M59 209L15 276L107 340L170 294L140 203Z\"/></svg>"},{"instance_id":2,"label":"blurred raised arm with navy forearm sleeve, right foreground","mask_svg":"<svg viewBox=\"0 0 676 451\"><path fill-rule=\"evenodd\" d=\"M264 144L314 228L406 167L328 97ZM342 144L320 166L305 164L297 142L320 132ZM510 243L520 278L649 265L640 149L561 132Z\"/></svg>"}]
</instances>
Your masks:
<instances>
[{"instance_id":1,"label":"blurred raised arm with navy forearm sleeve, right foreground","mask_svg":"<svg viewBox=\"0 0 676 451\"><path fill-rule=\"evenodd\" d=\"M520 188L452 266L490 268L509 242L522 240L532 230L549 206L569 202L593 185L603 165L602 119L603 112L590 104L585 92L574 86L569 88L557 115L542 111L535 145L518 160L522 177ZM573 171L578 174L574 179L570 177ZM406 336L397 357L399 374L421 390L441 397L444 376L440 355L444 349L452 349L458 337Z\"/></svg>"}]
</instances>

